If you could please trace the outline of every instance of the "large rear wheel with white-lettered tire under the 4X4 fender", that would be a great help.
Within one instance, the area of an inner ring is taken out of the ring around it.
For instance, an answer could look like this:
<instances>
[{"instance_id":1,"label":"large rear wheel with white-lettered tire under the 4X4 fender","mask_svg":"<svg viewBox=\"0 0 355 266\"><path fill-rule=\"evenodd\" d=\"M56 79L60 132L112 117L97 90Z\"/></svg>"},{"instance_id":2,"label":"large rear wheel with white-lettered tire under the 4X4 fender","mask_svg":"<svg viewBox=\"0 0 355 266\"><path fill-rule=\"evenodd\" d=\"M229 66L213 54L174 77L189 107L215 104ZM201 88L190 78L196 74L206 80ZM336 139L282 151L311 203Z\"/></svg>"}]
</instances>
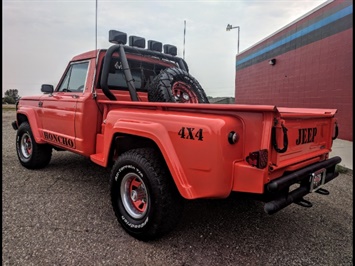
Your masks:
<instances>
[{"instance_id":1,"label":"large rear wheel with white-lettered tire under the 4X4 fender","mask_svg":"<svg viewBox=\"0 0 355 266\"><path fill-rule=\"evenodd\" d=\"M168 233L182 212L183 199L162 156L154 149L122 154L113 166L110 190L118 222L139 240Z\"/></svg>"}]
</instances>

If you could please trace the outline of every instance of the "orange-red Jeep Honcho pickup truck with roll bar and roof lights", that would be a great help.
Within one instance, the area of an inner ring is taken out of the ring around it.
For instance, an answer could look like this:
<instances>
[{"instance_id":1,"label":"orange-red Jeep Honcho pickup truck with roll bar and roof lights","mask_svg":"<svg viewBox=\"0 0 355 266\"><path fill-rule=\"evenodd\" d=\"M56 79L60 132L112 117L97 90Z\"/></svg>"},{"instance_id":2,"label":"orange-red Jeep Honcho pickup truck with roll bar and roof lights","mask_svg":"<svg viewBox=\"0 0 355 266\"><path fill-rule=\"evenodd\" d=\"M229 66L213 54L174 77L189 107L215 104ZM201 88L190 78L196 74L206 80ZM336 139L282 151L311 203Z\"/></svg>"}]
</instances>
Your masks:
<instances>
[{"instance_id":1,"label":"orange-red Jeep Honcho pickup truck with roll bar and roof lights","mask_svg":"<svg viewBox=\"0 0 355 266\"><path fill-rule=\"evenodd\" d=\"M53 149L112 167L113 210L140 240L172 230L186 199L242 192L273 214L329 193L341 161L329 158L336 110L211 104L175 46L146 49L114 30L109 41L75 56L56 88L19 100L12 126L24 167L47 166Z\"/></svg>"}]
</instances>

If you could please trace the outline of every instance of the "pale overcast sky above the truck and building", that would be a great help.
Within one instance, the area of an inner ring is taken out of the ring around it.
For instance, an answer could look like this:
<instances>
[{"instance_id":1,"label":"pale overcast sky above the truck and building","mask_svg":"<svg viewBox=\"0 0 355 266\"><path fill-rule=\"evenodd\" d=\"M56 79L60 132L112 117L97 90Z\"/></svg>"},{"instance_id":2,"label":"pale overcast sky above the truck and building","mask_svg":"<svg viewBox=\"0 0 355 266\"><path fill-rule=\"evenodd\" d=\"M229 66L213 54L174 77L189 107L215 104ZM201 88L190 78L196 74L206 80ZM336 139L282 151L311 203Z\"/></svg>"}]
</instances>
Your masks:
<instances>
[{"instance_id":1,"label":"pale overcast sky above the truck and building","mask_svg":"<svg viewBox=\"0 0 355 266\"><path fill-rule=\"evenodd\" d=\"M176 45L208 96L234 97L238 29L227 25L239 26L243 52L325 2L3 0L2 93L41 95L75 55L110 47L113 29Z\"/></svg>"}]
</instances>

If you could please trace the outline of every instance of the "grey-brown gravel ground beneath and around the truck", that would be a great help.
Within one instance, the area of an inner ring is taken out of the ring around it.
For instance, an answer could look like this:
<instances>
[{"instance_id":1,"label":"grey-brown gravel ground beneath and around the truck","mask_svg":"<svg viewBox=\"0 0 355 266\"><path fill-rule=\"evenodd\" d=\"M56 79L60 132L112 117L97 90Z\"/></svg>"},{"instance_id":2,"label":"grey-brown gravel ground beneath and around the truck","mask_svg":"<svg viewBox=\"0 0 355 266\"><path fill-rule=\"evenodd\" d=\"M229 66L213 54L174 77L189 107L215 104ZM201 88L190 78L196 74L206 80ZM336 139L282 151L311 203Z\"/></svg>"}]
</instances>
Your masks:
<instances>
[{"instance_id":1,"label":"grey-brown gravel ground beneath and around the truck","mask_svg":"<svg viewBox=\"0 0 355 266\"><path fill-rule=\"evenodd\" d=\"M18 162L3 110L2 265L353 265L353 176L342 173L267 215L262 203L231 197L186 204L177 228L151 242L126 234L109 199L110 169L69 152L48 167Z\"/></svg>"}]
</instances>

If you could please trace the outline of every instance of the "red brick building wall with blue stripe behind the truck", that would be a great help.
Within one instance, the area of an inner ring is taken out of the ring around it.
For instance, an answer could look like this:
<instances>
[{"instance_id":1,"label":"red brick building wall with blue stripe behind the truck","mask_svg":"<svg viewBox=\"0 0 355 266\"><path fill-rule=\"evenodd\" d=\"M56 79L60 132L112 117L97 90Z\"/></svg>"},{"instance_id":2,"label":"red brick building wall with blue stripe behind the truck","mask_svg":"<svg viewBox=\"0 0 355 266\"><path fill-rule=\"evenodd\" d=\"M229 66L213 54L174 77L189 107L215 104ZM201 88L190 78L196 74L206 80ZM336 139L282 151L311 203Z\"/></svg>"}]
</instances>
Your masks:
<instances>
[{"instance_id":1,"label":"red brick building wall with blue stripe behind the truck","mask_svg":"<svg viewBox=\"0 0 355 266\"><path fill-rule=\"evenodd\" d=\"M326 2L237 55L236 103L337 109L338 138L352 141L352 7Z\"/></svg>"}]
</instances>

